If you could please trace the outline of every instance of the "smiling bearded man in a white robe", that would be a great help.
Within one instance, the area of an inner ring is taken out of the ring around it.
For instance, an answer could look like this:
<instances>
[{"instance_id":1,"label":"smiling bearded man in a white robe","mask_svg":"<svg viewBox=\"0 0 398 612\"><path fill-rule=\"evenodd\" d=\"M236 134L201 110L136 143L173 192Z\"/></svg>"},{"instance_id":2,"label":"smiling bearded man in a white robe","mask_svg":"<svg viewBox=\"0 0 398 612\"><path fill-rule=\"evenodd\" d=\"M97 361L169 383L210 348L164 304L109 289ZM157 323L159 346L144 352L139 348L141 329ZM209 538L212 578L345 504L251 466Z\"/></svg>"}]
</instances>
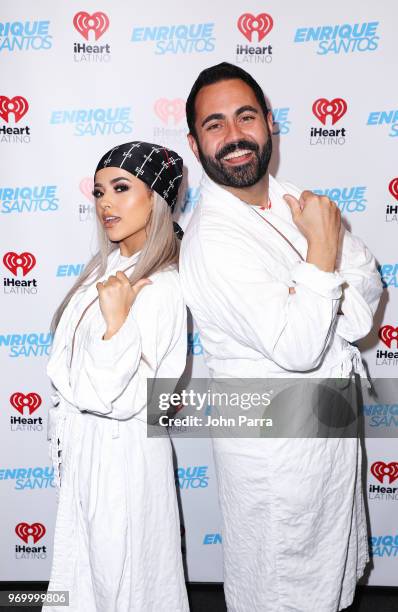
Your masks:
<instances>
[{"instance_id":1,"label":"smiling bearded man in a white robe","mask_svg":"<svg viewBox=\"0 0 398 612\"><path fill-rule=\"evenodd\" d=\"M272 114L222 63L187 100L204 176L183 292L214 378L349 377L372 327L375 260L327 197L268 174ZM336 612L368 561L358 439L213 440L230 612Z\"/></svg>"}]
</instances>

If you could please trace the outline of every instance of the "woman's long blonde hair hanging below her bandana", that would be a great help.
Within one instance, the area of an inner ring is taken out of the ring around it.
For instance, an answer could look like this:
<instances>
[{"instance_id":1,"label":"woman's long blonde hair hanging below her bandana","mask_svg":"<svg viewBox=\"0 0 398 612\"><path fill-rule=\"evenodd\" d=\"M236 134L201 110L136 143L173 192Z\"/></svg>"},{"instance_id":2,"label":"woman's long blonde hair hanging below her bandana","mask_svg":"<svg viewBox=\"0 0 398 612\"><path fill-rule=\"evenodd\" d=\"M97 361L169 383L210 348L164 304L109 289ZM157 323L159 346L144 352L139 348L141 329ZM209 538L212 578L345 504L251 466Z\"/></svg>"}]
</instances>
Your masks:
<instances>
[{"instance_id":1,"label":"woman's long blonde hair hanging below her bandana","mask_svg":"<svg viewBox=\"0 0 398 612\"><path fill-rule=\"evenodd\" d=\"M162 268L177 265L179 240L174 233L171 209L167 202L155 191L151 192L152 209L146 226L147 239L144 243L137 264L129 280L132 284L146 278ZM90 259L83 273L68 291L55 311L51 322L51 331L55 333L62 314L72 297L81 288L98 281L106 272L108 256L118 248L118 243L111 242L97 218L99 251ZM88 282L89 281L89 282Z\"/></svg>"}]
</instances>

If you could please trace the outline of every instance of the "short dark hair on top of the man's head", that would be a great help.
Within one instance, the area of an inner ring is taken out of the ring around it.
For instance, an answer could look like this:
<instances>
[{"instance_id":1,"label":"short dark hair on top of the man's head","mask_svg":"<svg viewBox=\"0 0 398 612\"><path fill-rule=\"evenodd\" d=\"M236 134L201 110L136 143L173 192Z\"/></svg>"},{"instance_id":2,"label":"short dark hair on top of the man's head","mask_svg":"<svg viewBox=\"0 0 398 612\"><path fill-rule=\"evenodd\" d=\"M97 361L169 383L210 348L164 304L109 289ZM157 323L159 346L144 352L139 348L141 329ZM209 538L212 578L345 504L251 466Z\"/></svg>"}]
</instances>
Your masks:
<instances>
[{"instance_id":1,"label":"short dark hair on top of the man's head","mask_svg":"<svg viewBox=\"0 0 398 612\"><path fill-rule=\"evenodd\" d=\"M261 106L261 110L264 113L264 117L267 116L269 109L265 101L264 92L257 81L255 81L251 74L246 72L246 70L243 70L243 68L239 68L239 66L229 64L228 62L222 62L221 64L216 64L215 66L210 66L209 68L202 70L193 84L191 91L189 92L186 103L187 123L189 133L192 134L194 138L197 137L195 129L195 101L199 91L206 85L213 85L219 81L230 81L232 79L240 79L241 81L244 81L253 90L257 102Z\"/></svg>"}]
</instances>

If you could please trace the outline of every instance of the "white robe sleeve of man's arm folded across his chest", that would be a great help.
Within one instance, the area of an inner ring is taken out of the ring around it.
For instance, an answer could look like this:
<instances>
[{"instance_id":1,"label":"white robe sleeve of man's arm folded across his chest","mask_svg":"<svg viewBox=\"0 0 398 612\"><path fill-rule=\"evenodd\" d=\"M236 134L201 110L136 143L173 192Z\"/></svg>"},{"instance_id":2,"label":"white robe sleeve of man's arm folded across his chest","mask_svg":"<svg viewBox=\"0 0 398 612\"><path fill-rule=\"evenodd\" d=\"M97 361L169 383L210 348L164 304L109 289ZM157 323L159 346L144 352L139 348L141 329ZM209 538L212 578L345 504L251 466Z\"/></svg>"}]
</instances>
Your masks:
<instances>
[{"instance_id":1,"label":"white robe sleeve of man's arm folded across his chest","mask_svg":"<svg viewBox=\"0 0 398 612\"><path fill-rule=\"evenodd\" d=\"M271 255L260 261L250 245L230 236L201 244L201 256L192 255L204 264L198 273L214 324L286 370L315 368L339 308L342 277L300 262L292 270L296 292L289 294Z\"/></svg>"}]
</instances>

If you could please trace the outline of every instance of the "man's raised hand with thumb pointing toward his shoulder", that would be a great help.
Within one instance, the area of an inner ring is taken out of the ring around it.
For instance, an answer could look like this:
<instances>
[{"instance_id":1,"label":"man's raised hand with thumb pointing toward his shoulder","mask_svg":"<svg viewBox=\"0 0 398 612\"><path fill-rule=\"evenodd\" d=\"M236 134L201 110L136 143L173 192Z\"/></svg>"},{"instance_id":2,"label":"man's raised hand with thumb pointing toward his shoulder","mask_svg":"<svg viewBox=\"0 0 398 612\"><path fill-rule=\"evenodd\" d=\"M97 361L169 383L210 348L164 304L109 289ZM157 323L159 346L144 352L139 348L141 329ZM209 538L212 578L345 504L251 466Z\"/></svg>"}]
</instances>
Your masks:
<instances>
[{"instance_id":1,"label":"man's raised hand with thumb pointing toward his shoulder","mask_svg":"<svg viewBox=\"0 0 398 612\"><path fill-rule=\"evenodd\" d=\"M289 194L284 199L294 223L307 239L307 262L325 272L334 272L341 225L338 206L328 197L311 191L303 191L299 200Z\"/></svg>"}]
</instances>

